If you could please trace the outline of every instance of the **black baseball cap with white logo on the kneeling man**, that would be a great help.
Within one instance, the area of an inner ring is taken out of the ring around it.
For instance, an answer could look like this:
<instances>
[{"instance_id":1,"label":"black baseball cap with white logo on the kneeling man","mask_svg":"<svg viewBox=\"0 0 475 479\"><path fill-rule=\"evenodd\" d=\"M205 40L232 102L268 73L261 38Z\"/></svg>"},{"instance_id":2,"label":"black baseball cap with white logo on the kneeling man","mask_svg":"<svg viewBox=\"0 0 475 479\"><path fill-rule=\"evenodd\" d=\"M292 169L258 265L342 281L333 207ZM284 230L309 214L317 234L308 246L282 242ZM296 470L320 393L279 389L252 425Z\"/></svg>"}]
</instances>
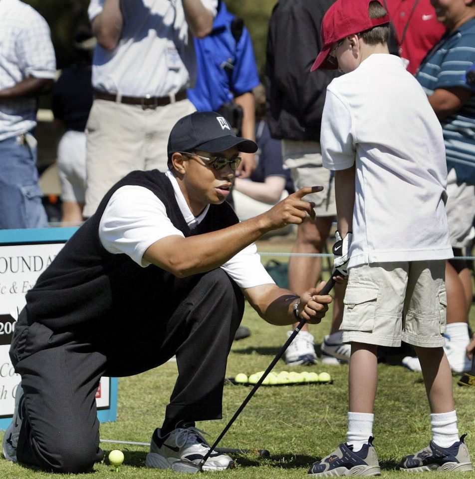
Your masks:
<instances>
[{"instance_id":1,"label":"black baseball cap with white logo on the kneeling man","mask_svg":"<svg viewBox=\"0 0 475 479\"><path fill-rule=\"evenodd\" d=\"M223 115L216 111L195 111L179 119L172 128L168 137L168 158L176 151L218 153L233 146L244 153L257 151L254 141L236 136Z\"/></svg>"}]
</instances>

